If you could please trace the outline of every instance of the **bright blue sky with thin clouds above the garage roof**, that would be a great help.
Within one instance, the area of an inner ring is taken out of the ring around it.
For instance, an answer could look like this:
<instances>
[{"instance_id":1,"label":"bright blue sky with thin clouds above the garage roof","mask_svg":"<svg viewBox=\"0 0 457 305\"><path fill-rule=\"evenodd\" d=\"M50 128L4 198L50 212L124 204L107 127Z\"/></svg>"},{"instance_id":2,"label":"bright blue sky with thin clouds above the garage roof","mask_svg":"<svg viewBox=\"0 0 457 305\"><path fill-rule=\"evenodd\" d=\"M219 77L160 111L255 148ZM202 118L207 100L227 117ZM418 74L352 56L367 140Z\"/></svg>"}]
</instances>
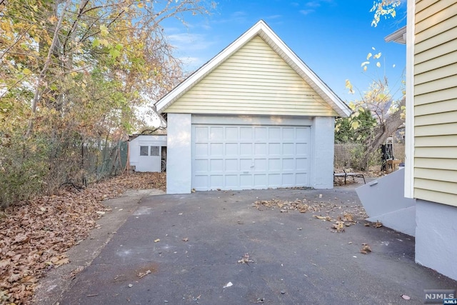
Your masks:
<instances>
[{"instance_id":1,"label":"bright blue sky with thin clouds above the garage roof","mask_svg":"<svg viewBox=\"0 0 457 305\"><path fill-rule=\"evenodd\" d=\"M168 21L164 27L188 72L263 19L343 101L360 96L347 94L346 79L365 91L372 79L384 75L399 96L406 46L386 43L384 37L406 25L406 1L402 2L397 17L382 19L376 28L371 26L370 0L221 0L210 16L185 16L187 26ZM381 68L371 60L364 72L361 63L369 52L382 53Z\"/></svg>"}]
</instances>

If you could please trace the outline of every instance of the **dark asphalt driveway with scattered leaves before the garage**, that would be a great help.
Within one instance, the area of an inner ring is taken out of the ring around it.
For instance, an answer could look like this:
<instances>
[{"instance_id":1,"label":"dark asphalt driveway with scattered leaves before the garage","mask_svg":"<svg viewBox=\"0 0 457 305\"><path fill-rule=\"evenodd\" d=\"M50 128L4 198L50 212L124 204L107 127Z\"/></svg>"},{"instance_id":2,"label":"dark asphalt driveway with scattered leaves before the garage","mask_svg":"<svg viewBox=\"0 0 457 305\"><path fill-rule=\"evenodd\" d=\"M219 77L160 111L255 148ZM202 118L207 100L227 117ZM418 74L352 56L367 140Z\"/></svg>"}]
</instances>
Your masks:
<instances>
[{"instance_id":1,"label":"dark asphalt driveway with scattered leaves before the garage","mask_svg":"<svg viewBox=\"0 0 457 305\"><path fill-rule=\"evenodd\" d=\"M270 199L316 211L253 206ZM147 196L59 304L423 304L423 289L457 289L359 206L351 186ZM345 213L357 223L343 232L315 217Z\"/></svg>"}]
</instances>

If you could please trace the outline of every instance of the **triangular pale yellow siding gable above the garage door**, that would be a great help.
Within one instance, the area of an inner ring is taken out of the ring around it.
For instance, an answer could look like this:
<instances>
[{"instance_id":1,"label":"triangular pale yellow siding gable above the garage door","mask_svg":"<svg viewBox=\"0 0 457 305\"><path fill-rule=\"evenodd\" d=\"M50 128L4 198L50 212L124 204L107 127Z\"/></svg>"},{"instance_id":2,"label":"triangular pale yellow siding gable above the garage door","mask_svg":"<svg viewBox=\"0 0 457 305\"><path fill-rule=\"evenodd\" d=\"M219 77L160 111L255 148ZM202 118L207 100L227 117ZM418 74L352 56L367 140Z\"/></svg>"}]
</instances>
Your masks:
<instances>
[{"instance_id":1,"label":"triangular pale yellow siding gable above the garage door","mask_svg":"<svg viewBox=\"0 0 457 305\"><path fill-rule=\"evenodd\" d=\"M260 36L195 84L166 112L338 116Z\"/></svg>"}]
</instances>

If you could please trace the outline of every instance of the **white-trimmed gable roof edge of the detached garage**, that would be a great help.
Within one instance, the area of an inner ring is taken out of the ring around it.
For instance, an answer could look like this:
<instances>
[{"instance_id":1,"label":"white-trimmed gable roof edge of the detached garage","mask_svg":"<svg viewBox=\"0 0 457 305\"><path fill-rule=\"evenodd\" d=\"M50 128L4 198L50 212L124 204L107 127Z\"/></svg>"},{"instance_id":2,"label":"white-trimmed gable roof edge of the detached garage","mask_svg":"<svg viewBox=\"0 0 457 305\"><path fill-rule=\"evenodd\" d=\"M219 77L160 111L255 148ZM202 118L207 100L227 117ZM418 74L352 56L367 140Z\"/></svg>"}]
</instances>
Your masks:
<instances>
[{"instance_id":1,"label":"white-trimmed gable roof edge of the detached garage","mask_svg":"<svg viewBox=\"0 0 457 305\"><path fill-rule=\"evenodd\" d=\"M156 102L157 112L161 113L166 110L171 104L174 103L179 97L185 94L206 75L214 71L222 62L228 59L238 49L245 45L248 41L255 36L261 36L281 58L286 61L301 78L306 81L316 93L326 101L332 109L341 117L347 117L351 114L351 109L330 89L328 86L311 70L308 66L288 48L284 42L271 30L271 28L260 20L254 24L251 29L248 29L238 39L233 41L223 51L213 57L206 64L201 66L200 69L191 74L187 79L181 82L166 96Z\"/></svg>"}]
</instances>

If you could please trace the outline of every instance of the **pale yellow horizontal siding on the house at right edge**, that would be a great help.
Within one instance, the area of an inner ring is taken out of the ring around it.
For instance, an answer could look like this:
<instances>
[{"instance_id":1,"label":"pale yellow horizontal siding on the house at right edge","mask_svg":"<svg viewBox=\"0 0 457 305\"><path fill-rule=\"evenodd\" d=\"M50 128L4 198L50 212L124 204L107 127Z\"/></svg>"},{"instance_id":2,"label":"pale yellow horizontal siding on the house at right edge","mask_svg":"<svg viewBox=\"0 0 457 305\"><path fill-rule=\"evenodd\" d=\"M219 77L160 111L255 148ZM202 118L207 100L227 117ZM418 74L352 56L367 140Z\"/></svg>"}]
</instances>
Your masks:
<instances>
[{"instance_id":1,"label":"pale yellow horizontal siding on the house at right edge","mask_svg":"<svg viewBox=\"0 0 457 305\"><path fill-rule=\"evenodd\" d=\"M414 197L457 206L457 3L416 1Z\"/></svg>"}]
</instances>

